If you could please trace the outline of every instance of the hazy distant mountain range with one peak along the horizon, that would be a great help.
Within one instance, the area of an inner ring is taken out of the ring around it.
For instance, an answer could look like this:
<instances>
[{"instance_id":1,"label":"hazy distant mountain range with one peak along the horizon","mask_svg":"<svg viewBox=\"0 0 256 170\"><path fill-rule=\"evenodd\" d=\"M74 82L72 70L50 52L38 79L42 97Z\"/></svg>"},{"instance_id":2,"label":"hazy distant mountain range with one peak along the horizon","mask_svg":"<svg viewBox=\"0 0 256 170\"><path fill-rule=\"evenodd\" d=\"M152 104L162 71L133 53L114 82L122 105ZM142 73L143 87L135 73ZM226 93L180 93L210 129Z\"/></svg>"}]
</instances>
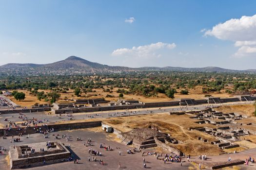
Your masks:
<instances>
[{"instance_id":1,"label":"hazy distant mountain range with one peak along the horizon","mask_svg":"<svg viewBox=\"0 0 256 170\"><path fill-rule=\"evenodd\" d=\"M181 68L181 67L142 67L128 68L120 66L108 66L88 60L70 56L51 64L17 64L10 63L0 66L1 73L8 74L73 74L73 73L99 73L99 72L123 72L123 71L141 71L141 70L170 70L184 72L254 72L256 69L233 70L218 67L205 68Z\"/></svg>"}]
</instances>

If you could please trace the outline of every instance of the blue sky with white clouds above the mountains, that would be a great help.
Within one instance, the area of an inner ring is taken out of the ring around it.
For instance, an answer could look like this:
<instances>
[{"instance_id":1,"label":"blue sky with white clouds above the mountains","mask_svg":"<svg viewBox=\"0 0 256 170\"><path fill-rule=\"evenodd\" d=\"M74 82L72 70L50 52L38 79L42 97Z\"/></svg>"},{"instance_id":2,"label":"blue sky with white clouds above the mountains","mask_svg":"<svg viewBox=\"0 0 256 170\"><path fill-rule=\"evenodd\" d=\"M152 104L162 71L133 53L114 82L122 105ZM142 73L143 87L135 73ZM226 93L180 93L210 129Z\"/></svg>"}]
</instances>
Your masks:
<instances>
[{"instance_id":1,"label":"blue sky with white clouds above the mountains","mask_svg":"<svg viewBox=\"0 0 256 170\"><path fill-rule=\"evenodd\" d=\"M0 0L0 65L256 69L256 0Z\"/></svg>"}]
</instances>

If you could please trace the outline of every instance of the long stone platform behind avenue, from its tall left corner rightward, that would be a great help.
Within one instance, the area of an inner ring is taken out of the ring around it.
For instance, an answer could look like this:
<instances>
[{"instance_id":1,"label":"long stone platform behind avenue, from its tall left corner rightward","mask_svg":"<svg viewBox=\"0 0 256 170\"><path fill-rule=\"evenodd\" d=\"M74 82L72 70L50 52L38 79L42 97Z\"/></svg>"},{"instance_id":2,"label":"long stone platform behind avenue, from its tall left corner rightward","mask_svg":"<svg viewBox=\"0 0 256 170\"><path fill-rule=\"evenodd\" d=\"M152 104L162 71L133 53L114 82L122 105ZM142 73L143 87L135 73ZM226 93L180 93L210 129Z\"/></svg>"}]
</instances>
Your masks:
<instances>
[{"instance_id":1,"label":"long stone platform behind avenue, from its tall left corner rightward","mask_svg":"<svg viewBox=\"0 0 256 170\"><path fill-rule=\"evenodd\" d=\"M249 97L247 97L249 99ZM243 98L242 98L243 99ZM124 109L139 109L139 108L151 108L151 107L170 107L170 106L190 106L198 104L218 104L225 102L241 102L240 98L214 98L208 99L180 99L179 101L168 101L168 102L139 102L136 100L118 100L117 102L111 102L109 105L100 106L95 102L90 104L89 107L85 105L77 105L74 103L54 103L52 112L55 114L64 113L79 113L79 112L99 112L99 111L110 111L110 110L124 110ZM256 97L250 96L250 100L256 100ZM244 100L243 100L244 101ZM249 101L249 100L247 100Z\"/></svg>"}]
</instances>

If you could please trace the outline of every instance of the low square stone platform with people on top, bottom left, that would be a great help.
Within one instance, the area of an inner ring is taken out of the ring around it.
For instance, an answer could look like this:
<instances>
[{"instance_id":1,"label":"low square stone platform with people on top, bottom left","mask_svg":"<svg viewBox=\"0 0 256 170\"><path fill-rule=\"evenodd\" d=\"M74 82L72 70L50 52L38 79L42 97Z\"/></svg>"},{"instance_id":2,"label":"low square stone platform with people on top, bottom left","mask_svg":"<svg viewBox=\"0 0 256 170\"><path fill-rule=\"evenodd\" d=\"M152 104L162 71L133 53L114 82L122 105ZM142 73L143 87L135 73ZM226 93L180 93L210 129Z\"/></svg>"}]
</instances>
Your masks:
<instances>
[{"instance_id":1,"label":"low square stone platform with people on top, bottom left","mask_svg":"<svg viewBox=\"0 0 256 170\"><path fill-rule=\"evenodd\" d=\"M27 145L11 146L9 151L10 168L20 169L41 166L45 163L52 164L62 162L70 157L68 149L58 141L32 143ZM41 149L44 151L41 151Z\"/></svg>"}]
</instances>

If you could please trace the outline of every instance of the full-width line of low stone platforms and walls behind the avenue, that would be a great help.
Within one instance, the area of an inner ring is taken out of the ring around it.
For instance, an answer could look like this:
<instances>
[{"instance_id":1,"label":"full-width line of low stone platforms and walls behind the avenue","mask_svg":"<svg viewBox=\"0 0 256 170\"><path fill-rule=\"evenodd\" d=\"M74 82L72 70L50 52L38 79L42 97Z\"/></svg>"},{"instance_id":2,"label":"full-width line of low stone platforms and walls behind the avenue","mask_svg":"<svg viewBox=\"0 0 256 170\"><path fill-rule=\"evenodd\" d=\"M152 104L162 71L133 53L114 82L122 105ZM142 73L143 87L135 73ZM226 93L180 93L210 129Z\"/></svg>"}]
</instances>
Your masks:
<instances>
[{"instance_id":1,"label":"full-width line of low stone platforms and walls behind the avenue","mask_svg":"<svg viewBox=\"0 0 256 170\"><path fill-rule=\"evenodd\" d=\"M170 106L189 106L198 104L218 104L225 102L250 102L256 100L256 96L240 96L234 98L215 98L208 99L180 99L179 101L168 102L139 102L136 100L118 100L117 102L109 102L108 105L100 105L100 103L107 103L104 99L78 99L70 103L53 103L53 105L33 106L32 109L15 109L15 110L1 110L1 114L5 113L30 113L30 112L44 112L52 111L54 114L71 114L81 112L100 112L111 110L125 110L125 109L139 109L151 107L170 107ZM86 106L89 104L89 106Z\"/></svg>"}]
</instances>

